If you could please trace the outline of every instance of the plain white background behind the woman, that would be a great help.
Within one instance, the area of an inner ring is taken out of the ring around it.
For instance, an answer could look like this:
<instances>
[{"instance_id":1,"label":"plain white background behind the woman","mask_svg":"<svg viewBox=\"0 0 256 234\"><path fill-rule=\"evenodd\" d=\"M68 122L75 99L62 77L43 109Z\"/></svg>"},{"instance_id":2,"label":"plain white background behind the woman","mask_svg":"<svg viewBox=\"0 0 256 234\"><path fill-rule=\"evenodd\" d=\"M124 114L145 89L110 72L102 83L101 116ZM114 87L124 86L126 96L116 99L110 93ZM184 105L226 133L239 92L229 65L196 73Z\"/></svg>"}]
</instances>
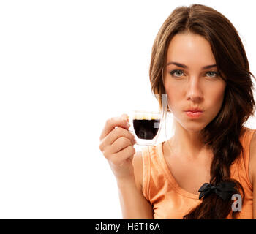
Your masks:
<instances>
[{"instance_id":1,"label":"plain white background behind the woman","mask_svg":"<svg viewBox=\"0 0 256 234\"><path fill-rule=\"evenodd\" d=\"M230 19L256 75L254 1L0 1L1 219L121 219L99 135L111 116L156 107L154 38L192 3Z\"/></svg>"}]
</instances>

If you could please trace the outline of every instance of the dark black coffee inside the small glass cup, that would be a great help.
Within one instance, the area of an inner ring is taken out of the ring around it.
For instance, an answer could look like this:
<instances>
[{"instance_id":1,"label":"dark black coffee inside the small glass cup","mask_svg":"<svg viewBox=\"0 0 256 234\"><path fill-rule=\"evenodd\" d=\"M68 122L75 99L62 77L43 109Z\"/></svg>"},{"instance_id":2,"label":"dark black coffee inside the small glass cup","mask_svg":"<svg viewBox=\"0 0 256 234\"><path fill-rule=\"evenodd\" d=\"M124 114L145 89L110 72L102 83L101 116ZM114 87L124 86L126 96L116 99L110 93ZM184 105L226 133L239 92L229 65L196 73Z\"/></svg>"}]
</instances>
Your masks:
<instances>
[{"instance_id":1,"label":"dark black coffee inside the small glass cup","mask_svg":"<svg viewBox=\"0 0 256 234\"><path fill-rule=\"evenodd\" d=\"M152 140L158 132L160 119L133 119L135 134L140 139Z\"/></svg>"}]
</instances>

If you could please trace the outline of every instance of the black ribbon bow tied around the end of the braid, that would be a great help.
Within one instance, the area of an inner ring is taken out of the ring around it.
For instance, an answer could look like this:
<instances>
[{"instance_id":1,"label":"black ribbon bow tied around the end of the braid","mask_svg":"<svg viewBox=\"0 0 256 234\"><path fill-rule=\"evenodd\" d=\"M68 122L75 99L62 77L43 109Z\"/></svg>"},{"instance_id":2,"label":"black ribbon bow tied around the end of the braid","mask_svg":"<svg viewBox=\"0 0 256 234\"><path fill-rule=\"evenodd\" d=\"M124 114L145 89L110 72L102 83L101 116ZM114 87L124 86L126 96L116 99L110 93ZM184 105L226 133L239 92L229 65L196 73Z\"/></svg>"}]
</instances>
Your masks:
<instances>
[{"instance_id":1,"label":"black ribbon bow tied around the end of the braid","mask_svg":"<svg viewBox=\"0 0 256 234\"><path fill-rule=\"evenodd\" d=\"M232 181L222 181L218 186L205 183L198 190L198 192L200 192L199 199L214 192L219 197L222 197L223 200L227 200L227 198L234 192L237 193L234 188L235 185L236 184Z\"/></svg>"}]
</instances>

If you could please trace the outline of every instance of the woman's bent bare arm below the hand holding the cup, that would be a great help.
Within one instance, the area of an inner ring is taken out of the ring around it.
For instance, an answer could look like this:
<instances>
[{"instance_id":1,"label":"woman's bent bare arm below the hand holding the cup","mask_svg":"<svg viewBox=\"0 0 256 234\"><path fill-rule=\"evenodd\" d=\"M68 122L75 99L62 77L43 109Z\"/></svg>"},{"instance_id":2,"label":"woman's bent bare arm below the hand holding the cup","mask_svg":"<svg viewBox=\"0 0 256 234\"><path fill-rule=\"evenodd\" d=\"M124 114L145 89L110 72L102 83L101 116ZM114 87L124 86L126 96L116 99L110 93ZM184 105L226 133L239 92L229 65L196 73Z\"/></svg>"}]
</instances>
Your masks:
<instances>
[{"instance_id":1,"label":"woman's bent bare arm below the hand holding the cup","mask_svg":"<svg viewBox=\"0 0 256 234\"><path fill-rule=\"evenodd\" d=\"M117 181L123 219L154 219L152 205L142 192L143 162L140 151L133 156L132 164L134 176Z\"/></svg>"}]
</instances>

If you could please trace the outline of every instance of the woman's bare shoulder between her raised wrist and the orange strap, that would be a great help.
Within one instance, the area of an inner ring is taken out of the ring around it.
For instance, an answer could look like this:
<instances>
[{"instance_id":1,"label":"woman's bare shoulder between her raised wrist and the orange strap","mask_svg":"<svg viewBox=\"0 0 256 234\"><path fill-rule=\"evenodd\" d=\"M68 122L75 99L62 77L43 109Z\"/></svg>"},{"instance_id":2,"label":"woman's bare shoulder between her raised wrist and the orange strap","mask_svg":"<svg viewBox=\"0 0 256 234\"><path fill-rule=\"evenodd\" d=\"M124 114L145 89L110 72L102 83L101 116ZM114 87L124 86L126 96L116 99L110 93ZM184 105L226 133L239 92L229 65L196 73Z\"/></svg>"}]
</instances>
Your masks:
<instances>
[{"instance_id":1,"label":"woman's bare shoulder between her raised wrist and the orange strap","mask_svg":"<svg viewBox=\"0 0 256 234\"><path fill-rule=\"evenodd\" d=\"M132 165L134 167L135 174L135 182L136 186L140 191L142 191L142 183L143 183L143 159L142 152L138 151L133 156Z\"/></svg>"}]
</instances>

